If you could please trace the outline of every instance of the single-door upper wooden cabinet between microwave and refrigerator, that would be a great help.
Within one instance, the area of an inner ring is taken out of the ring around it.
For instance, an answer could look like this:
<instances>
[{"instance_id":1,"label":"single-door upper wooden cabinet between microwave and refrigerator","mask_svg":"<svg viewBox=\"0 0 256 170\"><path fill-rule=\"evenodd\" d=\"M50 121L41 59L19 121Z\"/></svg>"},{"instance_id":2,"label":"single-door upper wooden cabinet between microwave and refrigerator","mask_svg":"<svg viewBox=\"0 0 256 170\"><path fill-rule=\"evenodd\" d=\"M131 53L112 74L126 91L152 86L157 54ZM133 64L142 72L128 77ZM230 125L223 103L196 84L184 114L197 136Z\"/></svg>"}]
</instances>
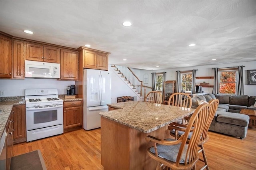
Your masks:
<instances>
[{"instance_id":1,"label":"single-door upper wooden cabinet between microwave and refrigerator","mask_svg":"<svg viewBox=\"0 0 256 170\"><path fill-rule=\"evenodd\" d=\"M60 79L78 80L78 52L60 50Z\"/></svg>"}]
</instances>

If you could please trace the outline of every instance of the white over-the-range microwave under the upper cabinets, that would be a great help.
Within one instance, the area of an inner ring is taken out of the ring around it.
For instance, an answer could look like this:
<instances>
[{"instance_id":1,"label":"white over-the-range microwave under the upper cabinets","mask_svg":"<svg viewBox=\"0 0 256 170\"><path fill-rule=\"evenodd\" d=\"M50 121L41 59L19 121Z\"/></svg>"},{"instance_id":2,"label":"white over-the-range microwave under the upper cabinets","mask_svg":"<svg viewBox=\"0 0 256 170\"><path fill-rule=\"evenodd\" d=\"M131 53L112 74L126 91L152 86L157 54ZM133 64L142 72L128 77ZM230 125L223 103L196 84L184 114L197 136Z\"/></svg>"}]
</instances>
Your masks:
<instances>
[{"instance_id":1,"label":"white over-the-range microwave under the upper cabinets","mask_svg":"<svg viewBox=\"0 0 256 170\"><path fill-rule=\"evenodd\" d=\"M60 64L25 60L26 78L60 78Z\"/></svg>"}]
</instances>

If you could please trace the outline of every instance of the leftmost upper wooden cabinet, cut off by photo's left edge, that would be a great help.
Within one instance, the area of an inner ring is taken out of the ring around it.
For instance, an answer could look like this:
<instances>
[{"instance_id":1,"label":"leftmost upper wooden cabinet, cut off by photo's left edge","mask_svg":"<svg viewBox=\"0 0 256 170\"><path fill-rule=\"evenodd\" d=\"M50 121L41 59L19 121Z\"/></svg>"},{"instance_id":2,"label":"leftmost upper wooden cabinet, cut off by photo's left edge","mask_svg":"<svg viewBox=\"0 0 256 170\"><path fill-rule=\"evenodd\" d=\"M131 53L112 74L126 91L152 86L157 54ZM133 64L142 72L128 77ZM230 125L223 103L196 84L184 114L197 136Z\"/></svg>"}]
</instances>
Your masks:
<instances>
[{"instance_id":1,"label":"leftmost upper wooden cabinet, cut off by photo's left edge","mask_svg":"<svg viewBox=\"0 0 256 170\"><path fill-rule=\"evenodd\" d=\"M12 40L0 36L0 77L12 77Z\"/></svg>"}]
</instances>

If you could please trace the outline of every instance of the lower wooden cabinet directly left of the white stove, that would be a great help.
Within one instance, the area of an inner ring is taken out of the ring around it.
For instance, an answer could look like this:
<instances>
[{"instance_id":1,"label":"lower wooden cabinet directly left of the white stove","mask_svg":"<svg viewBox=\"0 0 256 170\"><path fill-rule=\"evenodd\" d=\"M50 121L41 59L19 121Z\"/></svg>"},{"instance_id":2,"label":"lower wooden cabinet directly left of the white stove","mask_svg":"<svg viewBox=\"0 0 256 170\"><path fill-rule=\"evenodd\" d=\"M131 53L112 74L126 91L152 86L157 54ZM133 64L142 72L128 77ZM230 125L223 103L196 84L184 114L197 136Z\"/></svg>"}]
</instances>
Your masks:
<instances>
[{"instance_id":1,"label":"lower wooden cabinet directly left of the white stove","mask_svg":"<svg viewBox=\"0 0 256 170\"><path fill-rule=\"evenodd\" d=\"M25 105L13 106L14 144L26 142L26 109Z\"/></svg>"}]
</instances>

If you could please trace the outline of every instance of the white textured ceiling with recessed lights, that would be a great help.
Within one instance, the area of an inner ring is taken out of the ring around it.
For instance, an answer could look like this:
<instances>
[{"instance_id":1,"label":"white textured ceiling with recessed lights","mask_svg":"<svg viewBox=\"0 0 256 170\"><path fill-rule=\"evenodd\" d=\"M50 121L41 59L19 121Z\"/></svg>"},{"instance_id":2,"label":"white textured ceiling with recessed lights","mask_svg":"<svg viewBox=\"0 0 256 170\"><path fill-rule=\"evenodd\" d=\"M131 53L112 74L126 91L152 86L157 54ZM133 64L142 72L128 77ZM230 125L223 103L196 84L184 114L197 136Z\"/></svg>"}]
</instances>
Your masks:
<instances>
[{"instance_id":1,"label":"white textured ceiling with recessed lights","mask_svg":"<svg viewBox=\"0 0 256 170\"><path fill-rule=\"evenodd\" d=\"M0 0L0 31L138 69L255 61L256 0Z\"/></svg>"}]
</instances>

